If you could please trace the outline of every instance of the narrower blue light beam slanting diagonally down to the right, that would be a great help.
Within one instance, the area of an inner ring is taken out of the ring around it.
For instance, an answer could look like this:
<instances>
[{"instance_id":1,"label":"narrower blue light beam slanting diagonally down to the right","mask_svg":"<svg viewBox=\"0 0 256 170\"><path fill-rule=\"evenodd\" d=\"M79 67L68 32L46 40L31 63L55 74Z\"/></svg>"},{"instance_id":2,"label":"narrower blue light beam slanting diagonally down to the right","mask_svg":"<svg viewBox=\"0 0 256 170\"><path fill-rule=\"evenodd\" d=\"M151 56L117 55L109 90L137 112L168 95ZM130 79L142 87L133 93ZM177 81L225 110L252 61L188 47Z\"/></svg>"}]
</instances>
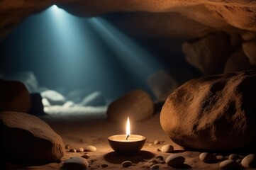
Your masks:
<instances>
[{"instance_id":1,"label":"narrower blue light beam slanting diagonally down to the right","mask_svg":"<svg viewBox=\"0 0 256 170\"><path fill-rule=\"evenodd\" d=\"M118 60L128 69L131 77L136 78L135 81L140 81L162 68L154 56L104 19L91 18L89 23L116 53Z\"/></svg>"}]
</instances>

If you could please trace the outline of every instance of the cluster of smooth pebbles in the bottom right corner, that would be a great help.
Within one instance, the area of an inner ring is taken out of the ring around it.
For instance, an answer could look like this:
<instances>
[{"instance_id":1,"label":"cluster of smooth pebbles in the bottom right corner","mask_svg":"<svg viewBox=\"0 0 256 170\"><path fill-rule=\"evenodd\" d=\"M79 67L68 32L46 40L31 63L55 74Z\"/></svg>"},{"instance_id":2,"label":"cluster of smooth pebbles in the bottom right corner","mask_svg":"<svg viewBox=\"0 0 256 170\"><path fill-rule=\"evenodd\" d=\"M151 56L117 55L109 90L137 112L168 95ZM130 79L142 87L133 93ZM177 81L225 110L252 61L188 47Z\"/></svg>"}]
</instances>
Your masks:
<instances>
[{"instance_id":1,"label":"cluster of smooth pebbles in the bottom right corner","mask_svg":"<svg viewBox=\"0 0 256 170\"><path fill-rule=\"evenodd\" d=\"M230 154L228 158L218 154L211 154L203 152L199 155L202 162L217 163L221 169L238 169L238 168L255 168L256 157L255 154L248 154L246 156L239 154Z\"/></svg>"}]
</instances>

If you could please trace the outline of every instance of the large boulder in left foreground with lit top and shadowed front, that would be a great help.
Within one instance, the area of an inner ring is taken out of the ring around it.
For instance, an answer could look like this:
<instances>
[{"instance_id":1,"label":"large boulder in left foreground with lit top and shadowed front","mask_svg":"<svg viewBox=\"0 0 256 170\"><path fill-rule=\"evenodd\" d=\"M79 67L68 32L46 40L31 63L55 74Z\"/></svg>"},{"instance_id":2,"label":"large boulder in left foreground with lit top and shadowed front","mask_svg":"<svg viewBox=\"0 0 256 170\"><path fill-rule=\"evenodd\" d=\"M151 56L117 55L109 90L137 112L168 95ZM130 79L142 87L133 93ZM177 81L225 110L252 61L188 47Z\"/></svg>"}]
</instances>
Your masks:
<instances>
[{"instance_id":1,"label":"large boulder in left foreground with lit top and shadowed front","mask_svg":"<svg viewBox=\"0 0 256 170\"><path fill-rule=\"evenodd\" d=\"M62 138L27 113L0 113L1 158L8 162L55 162L65 154Z\"/></svg>"}]
</instances>

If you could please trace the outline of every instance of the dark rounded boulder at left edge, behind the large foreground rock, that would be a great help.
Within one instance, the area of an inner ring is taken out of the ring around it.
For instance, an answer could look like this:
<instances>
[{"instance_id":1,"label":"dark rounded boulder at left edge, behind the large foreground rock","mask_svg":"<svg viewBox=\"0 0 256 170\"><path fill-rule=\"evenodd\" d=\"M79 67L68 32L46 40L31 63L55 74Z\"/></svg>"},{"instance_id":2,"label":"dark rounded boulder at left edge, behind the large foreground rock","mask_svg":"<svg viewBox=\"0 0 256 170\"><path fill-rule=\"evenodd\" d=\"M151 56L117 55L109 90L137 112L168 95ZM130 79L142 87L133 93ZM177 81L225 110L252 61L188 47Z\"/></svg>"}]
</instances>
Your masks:
<instances>
[{"instance_id":1,"label":"dark rounded boulder at left edge, behind the large foreground rock","mask_svg":"<svg viewBox=\"0 0 256 170\"><path fill-rule=\"evenodd\" d=\"M27 112L30 109L30 94L19 81L0 79L0 111Z\"/></svg>"}]
</instances>

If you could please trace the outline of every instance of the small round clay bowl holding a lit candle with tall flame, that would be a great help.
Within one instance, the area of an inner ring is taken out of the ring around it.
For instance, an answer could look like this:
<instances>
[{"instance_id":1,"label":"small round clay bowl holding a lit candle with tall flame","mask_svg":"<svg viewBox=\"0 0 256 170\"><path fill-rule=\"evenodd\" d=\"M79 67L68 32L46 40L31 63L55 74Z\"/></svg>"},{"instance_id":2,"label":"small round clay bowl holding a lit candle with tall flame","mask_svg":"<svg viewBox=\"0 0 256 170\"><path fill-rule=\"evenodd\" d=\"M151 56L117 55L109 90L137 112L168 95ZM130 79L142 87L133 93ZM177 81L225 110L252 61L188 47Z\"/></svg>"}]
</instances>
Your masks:
<instances>
[{"instance_id":1,"label":"small round clay bowl holding a lit candle with tall flame","mask_svg":"<svg viewBox=\"0 0 256 170\"><path fill-rule=\"evenodd\" d=\"M111 148L119 154L135 154L145 144L146 137L141 135L130 135L130 121L127 119L126 135L113 135L108 137Z\"/></svg>"}]
</instances>

